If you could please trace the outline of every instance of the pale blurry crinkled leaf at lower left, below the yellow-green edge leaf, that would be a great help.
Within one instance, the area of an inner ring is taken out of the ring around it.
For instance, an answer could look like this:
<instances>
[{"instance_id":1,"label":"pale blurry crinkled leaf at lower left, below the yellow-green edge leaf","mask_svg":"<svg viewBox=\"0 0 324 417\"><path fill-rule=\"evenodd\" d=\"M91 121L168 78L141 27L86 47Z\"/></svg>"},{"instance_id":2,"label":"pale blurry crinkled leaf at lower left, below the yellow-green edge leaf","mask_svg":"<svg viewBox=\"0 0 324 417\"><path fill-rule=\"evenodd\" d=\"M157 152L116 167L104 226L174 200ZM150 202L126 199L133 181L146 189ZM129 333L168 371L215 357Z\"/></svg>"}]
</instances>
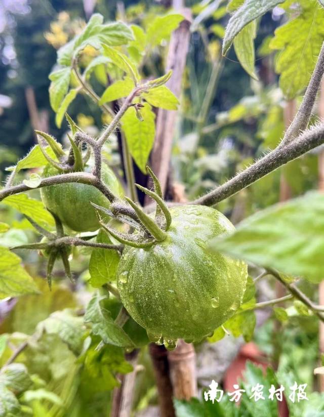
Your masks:
<instances>
[{"instance_id":1,"label":"pale blurry crinkled leaf at lower left, below the yellow-green edge leaf","mask_svg":"<svg viewBox=\"0 0 324 417\"><path fill-rule=\"evenodd\" d=\"M79 353L83 346L86 328L83 317L72 314L68 309L55 311L37 325L37 331L55 334L65 342L74 353Z\"/></svg>"}]
</instances>

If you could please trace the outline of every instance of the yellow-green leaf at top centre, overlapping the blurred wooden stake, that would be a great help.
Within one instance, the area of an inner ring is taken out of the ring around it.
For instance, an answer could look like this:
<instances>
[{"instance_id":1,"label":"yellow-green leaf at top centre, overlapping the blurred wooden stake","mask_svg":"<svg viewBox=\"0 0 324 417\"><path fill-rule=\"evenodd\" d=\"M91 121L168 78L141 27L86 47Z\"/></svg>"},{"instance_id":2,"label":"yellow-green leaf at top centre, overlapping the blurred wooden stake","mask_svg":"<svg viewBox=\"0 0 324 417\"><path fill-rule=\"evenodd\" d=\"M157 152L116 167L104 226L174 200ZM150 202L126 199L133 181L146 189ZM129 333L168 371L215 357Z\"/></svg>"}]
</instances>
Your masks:
<instances>
[{"instance_id":1,"label":"yellow-green leaf at top centre, overlapping the blurred wooden stake","mask_svg":"<svg viewBox=\"0 0 324 417\"><path fill-rule=\"evenodd\" d=\"M162 40L169 39L171 33L179 26L184 17L178 13L156 16L147 27L146 49L155 48Z\"/></svg>"}]
</instances>

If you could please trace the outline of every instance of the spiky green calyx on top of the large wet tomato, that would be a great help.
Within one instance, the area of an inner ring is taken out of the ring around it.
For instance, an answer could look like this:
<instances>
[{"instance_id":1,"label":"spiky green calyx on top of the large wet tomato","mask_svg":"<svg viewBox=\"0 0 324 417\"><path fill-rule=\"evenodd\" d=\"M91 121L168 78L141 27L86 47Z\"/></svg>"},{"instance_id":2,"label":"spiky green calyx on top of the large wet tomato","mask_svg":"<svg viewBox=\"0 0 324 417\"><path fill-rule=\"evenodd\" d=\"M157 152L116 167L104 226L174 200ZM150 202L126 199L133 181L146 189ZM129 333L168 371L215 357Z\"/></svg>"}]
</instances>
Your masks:
<instances>
[{"instance_id":1,"label":"spiky green calyx on top of the large wet tomato","mask_svg":"<svg viewBox=\"0 0 324 417\"><path fill-rule=\"evenodd\" d=\"M159 181L149 166L147 166L146 169L153 180L154 191L142 187L139 184L135 185L156 202L154 218L147 215L139 205L137 205L128 197L125 197L125 199L135 211L137 220L131 219L128 216L121 216L118 211L114 211L113 204L111 204L111 210L107 210L105 207L101 207L92 203L96 209L99 223L103 229L120 243L137 248L150 247L156 242L165 240L167 237L167 231L172 222L171 213L163 199ZM128 224L133 229L133 232L121 233L112 229L110 226L103 222L99 212L105 213L122 223Z\"/></svg>"}]
</instances>

